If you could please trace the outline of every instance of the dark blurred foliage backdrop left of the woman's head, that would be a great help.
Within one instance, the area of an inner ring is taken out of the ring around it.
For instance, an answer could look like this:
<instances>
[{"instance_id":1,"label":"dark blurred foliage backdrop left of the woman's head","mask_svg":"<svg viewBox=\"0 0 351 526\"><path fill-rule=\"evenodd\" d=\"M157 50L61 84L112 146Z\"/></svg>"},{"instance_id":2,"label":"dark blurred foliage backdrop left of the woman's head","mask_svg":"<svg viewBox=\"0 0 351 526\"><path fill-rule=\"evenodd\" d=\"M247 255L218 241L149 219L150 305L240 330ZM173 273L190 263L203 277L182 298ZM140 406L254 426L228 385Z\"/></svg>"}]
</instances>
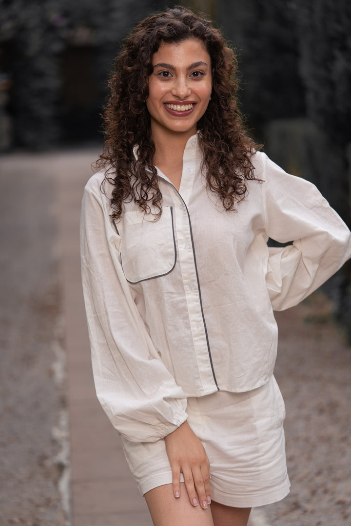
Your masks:
<instances>
[{"instance_id":1,"label":"dark blurred foliage backdrop left of the woman's head","mask_svg":"<svg viewBox=\"0 0 351 526\"><path fill-rule=\"evenodd\" d=\"M118 43L157 8L143 0L0 0L0 74L12 84L14 145L42 150L94 136Z\"/></svg>"}]
</instances>

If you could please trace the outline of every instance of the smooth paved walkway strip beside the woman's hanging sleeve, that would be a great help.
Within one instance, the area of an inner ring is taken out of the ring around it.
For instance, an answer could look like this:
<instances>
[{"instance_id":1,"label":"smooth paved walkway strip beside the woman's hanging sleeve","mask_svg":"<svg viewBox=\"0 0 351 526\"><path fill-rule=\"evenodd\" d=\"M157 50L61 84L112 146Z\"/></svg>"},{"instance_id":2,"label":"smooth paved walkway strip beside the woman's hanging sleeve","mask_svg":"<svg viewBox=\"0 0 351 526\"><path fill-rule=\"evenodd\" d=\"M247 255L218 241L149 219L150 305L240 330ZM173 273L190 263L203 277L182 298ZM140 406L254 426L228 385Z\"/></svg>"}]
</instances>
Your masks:
<instances>
[{"instance_id":1,"label":"smooth paved walkway strip beside the woman's hanging sleeve","mask_svg":"<svg viewBox=\"0 0 351 526\"><path fill-rule=\"evenodd\" d=\"M115 429L94 390L82 297L79 215L97 153L55 160L58 238L66 327L73 526L151 526L144 499L127 467Z\"/></svg>"}]
</instances>

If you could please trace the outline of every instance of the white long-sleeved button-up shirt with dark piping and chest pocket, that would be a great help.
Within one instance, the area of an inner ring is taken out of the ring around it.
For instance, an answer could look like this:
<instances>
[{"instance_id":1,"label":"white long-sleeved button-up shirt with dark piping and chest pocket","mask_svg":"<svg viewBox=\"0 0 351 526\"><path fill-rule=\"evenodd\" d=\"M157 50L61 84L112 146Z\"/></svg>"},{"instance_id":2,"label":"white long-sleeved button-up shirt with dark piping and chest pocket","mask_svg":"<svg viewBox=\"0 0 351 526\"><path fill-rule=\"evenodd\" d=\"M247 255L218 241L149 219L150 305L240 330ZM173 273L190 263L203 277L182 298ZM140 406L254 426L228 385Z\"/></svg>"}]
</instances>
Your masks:
<instances>
[{"instance_id":1,"label":"white long-sleeved button-up shirt with dark piping and chest pocket","mask_svg":"<svg viewBox=\"0 0 351 526\"><path fill-rule=\"evenodd\" d=\"M273 373L273 310L296 305L351 256L350 232L314 185L263 153L258 181L227 211L206 189L197 136L179 191L158 170L159 220L134 203L111 220L103 173L85 188L82 272L97 396L129 440L186 418L186 398L248 391ZM267 246L268 238L285 247Z\"/></svg>"}]
</instances>

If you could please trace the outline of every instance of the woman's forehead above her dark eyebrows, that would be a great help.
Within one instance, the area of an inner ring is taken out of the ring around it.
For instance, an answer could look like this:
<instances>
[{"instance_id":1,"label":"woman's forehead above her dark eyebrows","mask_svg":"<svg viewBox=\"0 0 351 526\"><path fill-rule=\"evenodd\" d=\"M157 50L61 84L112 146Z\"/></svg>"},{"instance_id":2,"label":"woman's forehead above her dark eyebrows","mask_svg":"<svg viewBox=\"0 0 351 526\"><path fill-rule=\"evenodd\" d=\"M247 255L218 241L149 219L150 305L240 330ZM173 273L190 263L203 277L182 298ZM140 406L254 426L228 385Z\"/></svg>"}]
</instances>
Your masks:
<instances>
[{"instance_id":1,"label":"woman's forehead above her dark eyebrows","mask_svg":"<svg viewBox=\"0 0 351 526\"><path fill-rule=\"evenodd\" d=\"M182 42L161 42L152 57L153 65L158 62L168 64L192 64L206 62L210 66L210 57L205 44L197 38L188 38Z\"/></svg>"}]
</instances>

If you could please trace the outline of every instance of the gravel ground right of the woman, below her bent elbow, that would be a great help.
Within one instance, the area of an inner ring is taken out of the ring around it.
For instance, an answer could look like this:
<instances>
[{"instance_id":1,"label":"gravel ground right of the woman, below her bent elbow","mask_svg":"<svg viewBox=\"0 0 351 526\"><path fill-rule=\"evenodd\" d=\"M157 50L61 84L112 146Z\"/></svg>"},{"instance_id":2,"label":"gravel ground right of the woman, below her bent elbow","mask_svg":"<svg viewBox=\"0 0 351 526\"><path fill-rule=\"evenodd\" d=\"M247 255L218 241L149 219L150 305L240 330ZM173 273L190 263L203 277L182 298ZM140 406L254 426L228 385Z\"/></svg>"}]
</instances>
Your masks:
<instances>
[{"instance_id":1,"label":"gravel ground right of the woman, below her bent elbow","mask_svg":"<svg viewBox=\"0 0 351 526\"><path fill-rule=\"evenodd\" d=\"M351 524L351 348L328 321L331 307L315 293L276 314L292 488L263 508L272 526Z\"/></svg>"}]
</instances>

